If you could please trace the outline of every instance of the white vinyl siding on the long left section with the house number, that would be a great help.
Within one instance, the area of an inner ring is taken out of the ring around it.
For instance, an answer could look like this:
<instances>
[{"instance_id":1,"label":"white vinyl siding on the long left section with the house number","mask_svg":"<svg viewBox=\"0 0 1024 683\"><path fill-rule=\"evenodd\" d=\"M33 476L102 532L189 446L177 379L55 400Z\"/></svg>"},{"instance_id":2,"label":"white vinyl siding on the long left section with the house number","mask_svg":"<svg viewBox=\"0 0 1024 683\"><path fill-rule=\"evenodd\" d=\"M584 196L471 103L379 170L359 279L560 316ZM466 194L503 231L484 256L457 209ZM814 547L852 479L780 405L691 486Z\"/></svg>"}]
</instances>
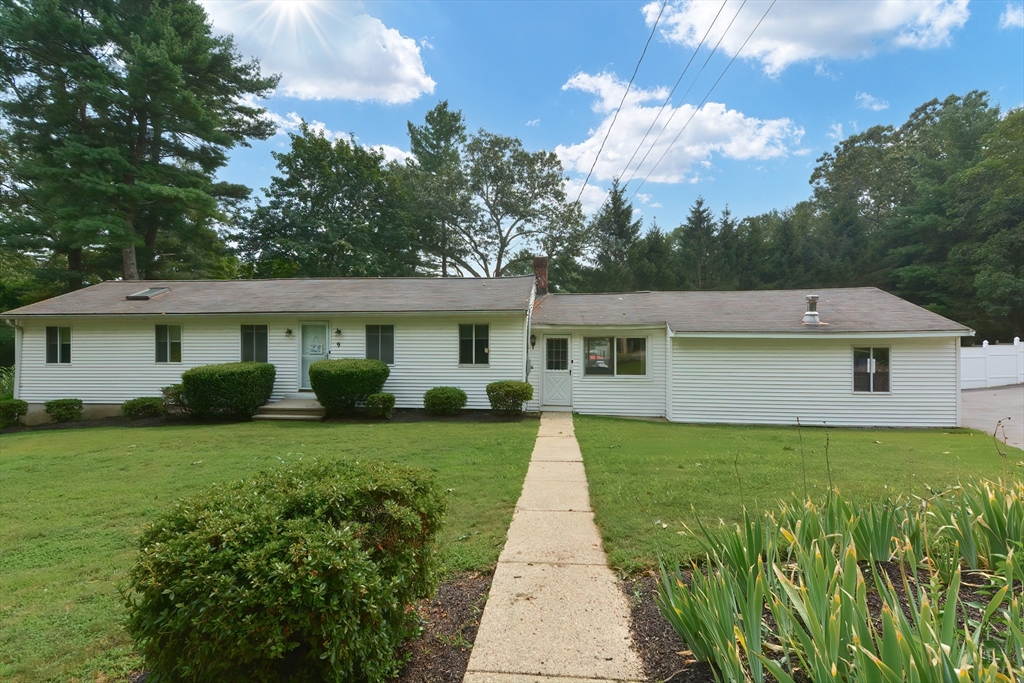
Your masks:
<instances>
[{"instance_id":1,"label":"white vinyl siding on the long left section with the house number","mask_svg":"<svg viewBox=\"0 0 1024 683\"><path fill-rule=\"evenodd\" d=\"M520 314L421 316L386 318L318 316L328 324L330 357L366 356L366 326L394 326L394 365L385 391L395 394L398 408L422 408L423 393L435 386L458 386L468 395L467 408L489 408L485 387L498 380L522 380L525 340ZM120 403L137 396L159 395L160 389L181 381L188 368L236 362L240 357L241 325L267 326L267 360L276 368L272 399L299 390L299 330L305 318L268 316L161 316L161 325L181 325L181 362L156 362L154 330L158 319L101 318L20 319L25 333L18 368L18 395L32 403L51 398L81 398L86 403ZM488 326L487 366L459 366L459 325ZM74 326L74 362L47 366L46 327ZM291 330L292 334L286 334ZM336 330L341 332L339 336Z\"/></svg>"}]
</instances>

